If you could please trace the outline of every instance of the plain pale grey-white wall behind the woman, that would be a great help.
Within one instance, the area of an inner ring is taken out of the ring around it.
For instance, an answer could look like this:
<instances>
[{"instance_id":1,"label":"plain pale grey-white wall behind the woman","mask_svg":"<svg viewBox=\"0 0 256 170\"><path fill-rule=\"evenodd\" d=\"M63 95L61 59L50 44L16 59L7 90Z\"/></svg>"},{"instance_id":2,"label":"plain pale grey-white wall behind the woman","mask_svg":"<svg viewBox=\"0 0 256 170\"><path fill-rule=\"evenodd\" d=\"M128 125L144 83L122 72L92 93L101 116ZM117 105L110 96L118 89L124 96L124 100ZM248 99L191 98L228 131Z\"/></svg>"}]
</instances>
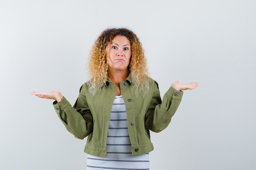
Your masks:
<instances>
[{"instance_id":1,"label":"plain pale grey-white wall behind the woman","mask_svg":"<svg viewBox=\"0 0 256 170\"><path fill-rule=\"evenodd\" d=\"M0 169L86 169L86 139L30 92L61 91L74 104L94 40L127 27L161 96L175 80L199 82L168 128L151 132L150 169L255 170L255 9L255 0L1 0Z\"/></svg>"}]
</instances>

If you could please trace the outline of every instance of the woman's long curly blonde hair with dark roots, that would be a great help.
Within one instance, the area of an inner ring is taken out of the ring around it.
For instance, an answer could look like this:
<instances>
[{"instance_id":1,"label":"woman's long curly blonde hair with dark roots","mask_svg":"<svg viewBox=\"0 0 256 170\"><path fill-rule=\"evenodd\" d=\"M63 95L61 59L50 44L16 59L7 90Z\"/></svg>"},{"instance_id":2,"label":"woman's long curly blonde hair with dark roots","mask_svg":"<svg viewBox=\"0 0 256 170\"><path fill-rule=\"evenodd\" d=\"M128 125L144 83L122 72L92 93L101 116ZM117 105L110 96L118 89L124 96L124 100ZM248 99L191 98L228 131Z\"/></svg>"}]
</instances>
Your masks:
<instances>
[{"instance_id":1,"label":"woman's long curly blonde hair with dark roots","mask_svg":"<svg viewBox=\"0 0 256 170\"><path fill-rule=\"evenodd\" d=\"M95 95L102 87L106 86L108 77L108 62L106 56L107 50L112 40L117 36L122 35L128 38L131 44L131 57L128 65L131 81L136 87L136 93L143 96L149 90L150 76L144 49L137 35L126 28L110 28L104 30L97 40L95 40L88 58L88 91Z\"/></svg>"}]
</instances>

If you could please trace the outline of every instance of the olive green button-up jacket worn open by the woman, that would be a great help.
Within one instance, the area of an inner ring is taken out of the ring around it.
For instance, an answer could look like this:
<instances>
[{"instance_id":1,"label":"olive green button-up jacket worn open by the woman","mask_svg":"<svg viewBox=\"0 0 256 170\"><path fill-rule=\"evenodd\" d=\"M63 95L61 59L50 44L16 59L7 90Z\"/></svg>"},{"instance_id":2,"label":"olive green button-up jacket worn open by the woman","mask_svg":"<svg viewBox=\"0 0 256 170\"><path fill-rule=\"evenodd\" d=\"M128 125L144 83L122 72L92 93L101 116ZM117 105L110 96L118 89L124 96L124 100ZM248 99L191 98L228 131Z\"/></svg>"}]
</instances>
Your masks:
<instances>
[{"instance_id":1,"label":"olive green button-up jacket worn open by the woman","mask_svg":"<svg viewBox=\"0 0 256 170\"><path fill-rule=\"evenodd\" d=\"M94 96L88 92L87 83L83 84L73 107L65 97L53 104L69 132L78 139L88 136L84 151L99 157L107 156L108 126L116 95L115 85L111 81L106 81L106 84ZM181 102L183 92L170 87L162 101L158 84L151 79L149 92L141 97L135 95L135 86L130 76L120 82L120 89L126 106L132 155L150 152L153 144L149 130L160 132L168 126Z\"/></svg>"}]
</instances>

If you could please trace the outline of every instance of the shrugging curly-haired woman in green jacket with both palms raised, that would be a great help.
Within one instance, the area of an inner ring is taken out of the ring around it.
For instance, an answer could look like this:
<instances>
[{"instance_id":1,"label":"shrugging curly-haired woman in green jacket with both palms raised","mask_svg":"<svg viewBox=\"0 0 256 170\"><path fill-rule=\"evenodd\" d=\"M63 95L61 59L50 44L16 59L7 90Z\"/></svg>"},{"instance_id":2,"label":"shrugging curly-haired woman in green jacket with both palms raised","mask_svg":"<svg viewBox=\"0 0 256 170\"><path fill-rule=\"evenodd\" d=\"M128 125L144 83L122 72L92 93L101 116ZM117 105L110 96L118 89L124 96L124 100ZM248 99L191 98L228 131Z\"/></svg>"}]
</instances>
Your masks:
<instances>
[{"instance_id":1,"label":"shrugging curly-haired woman in green jacket with both palms raised","mask_svg":"<svg viewBox=\"0 0 256 170\"><path fill-rule=\"evenodd\" d=\"M79 139L88 136L87 170L149 170L148 152L153 150L149 130L164 130L181 102L182 90L198 83L176 81L162 101L139 39L124 28L99 35L88 68L90 80L81 86L73 107L58 91L31 94L54 99L67 130Z\"/></svg>"}]
</instances>

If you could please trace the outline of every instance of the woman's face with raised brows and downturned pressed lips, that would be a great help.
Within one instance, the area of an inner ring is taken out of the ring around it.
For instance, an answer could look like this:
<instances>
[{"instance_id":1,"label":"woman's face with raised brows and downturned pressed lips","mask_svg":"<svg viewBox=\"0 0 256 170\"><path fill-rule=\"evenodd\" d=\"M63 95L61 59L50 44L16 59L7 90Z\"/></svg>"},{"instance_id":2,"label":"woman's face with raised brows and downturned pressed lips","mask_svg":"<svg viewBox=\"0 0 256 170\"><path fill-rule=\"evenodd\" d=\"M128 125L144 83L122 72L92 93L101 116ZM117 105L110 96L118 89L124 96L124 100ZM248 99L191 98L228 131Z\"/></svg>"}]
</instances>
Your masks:
<instances>
[{"instance_id":1,"label":"woman's face with raised brows and downturned pressed lips","mask_svg":"<svg viewBox=\"0 0 256 170\"><path fill-rule=\"evenodd\" d=\"M121 35L117 35L108 47L108 69L111 71L124 71L130 62L130 41Z\"/></svg>"}]
</instances>

